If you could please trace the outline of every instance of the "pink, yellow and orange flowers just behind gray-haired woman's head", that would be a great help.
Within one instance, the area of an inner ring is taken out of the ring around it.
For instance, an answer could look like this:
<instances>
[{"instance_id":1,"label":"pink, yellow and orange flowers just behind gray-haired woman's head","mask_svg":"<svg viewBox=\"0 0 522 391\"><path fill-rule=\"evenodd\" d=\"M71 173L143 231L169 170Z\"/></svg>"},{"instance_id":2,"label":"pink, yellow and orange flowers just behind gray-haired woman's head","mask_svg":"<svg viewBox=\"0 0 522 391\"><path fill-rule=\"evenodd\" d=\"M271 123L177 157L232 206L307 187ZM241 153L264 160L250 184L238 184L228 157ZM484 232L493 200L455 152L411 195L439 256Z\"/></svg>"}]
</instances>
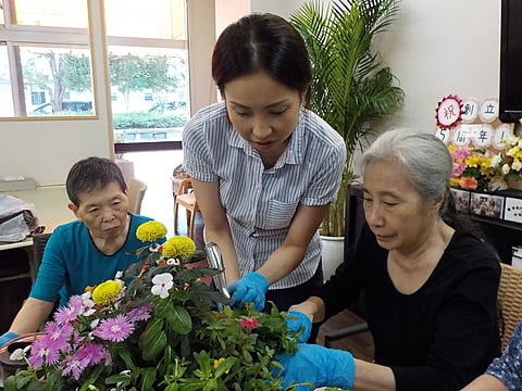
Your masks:
<instances>
[{"instance_id":1,"label":"pink, yellow and orange flowers just behind gray-haired woman's head","mask_svg":"<svg viewBox=\"0 0 522 391\"><path fill-rule=\"evenodd\" d=\"M453 161L452 187L465 190L487 191L496 178L492 165L493 152L484 148L448 146Z\"/></svg>"}]
</instances>

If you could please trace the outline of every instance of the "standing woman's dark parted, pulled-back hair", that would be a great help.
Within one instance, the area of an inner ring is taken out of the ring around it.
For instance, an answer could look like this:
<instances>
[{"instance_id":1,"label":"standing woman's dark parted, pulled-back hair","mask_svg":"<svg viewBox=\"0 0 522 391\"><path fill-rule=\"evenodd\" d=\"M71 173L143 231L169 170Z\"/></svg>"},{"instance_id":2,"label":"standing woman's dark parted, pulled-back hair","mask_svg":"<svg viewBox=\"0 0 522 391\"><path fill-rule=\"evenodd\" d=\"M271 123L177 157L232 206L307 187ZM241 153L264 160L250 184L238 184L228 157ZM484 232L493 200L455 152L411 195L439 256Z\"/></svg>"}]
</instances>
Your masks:
<instances>
[{"instance_id":1,"label":"standing woman's dark parted, pulled-back hair","mask_svg":"<svg viewBox=\"0 0 522 391\"><path fill-rule=\"evenodd\" d=\"M212 53L212 77L223 94L225 85L240 76L264 71L310 101L312 66L301 35L285 18L250 14L228 25Z\"/></svg>"}]
</instances>

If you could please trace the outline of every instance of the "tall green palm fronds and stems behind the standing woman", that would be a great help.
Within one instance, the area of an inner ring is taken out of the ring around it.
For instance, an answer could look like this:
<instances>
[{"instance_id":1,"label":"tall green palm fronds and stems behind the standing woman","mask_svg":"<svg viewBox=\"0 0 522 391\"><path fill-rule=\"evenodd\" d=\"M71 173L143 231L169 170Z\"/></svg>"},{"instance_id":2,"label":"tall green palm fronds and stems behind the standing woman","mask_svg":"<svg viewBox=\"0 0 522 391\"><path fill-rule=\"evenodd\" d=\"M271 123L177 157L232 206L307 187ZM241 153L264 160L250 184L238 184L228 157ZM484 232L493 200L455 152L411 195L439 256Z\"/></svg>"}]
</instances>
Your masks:
<instances>
[{"instance_id":1,"label":"tall green palm fronds and stems behind the standing woman","mask_svg":"<svg viewBox=\"0 0 522 391\"><path fill-rule=\"evenodd\" d=\"M310 109L345 139L348 153L337 199L321 225L321 235L343 237L346 187L353 153L372 134L372 122L393 113L403 91L372 47L398 12L398 0L313 0L290 15L304 38L313 66Z\"/></svg>"}]
</instances>

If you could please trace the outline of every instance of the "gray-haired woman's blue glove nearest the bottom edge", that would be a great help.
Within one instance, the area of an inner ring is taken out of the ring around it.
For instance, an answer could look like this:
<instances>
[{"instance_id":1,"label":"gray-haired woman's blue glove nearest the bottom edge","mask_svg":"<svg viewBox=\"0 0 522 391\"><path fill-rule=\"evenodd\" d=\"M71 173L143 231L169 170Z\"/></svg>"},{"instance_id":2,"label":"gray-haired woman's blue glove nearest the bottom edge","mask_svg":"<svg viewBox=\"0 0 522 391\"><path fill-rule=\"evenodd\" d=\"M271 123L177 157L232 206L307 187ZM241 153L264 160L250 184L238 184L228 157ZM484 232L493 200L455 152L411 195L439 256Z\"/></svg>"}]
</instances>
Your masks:
<instances>
[{"instance_id":1,"label":"gray-haired woman's blue glove nearest the bottom edge","mask_svg":"<svg viewBox=\"0 0 522 391\"><path fill-rule=\"evenodd\" d=\"M275 358L284 369L274 367L272 373L277 376L282 371L284 388L288 388L293 382L301 384L296 389L299 391L319 387L353 387L356 364L350 352L300 343L296 354L278 354ZM302 384L306 382L312 384Z\"/></svg>"}]
</instances>

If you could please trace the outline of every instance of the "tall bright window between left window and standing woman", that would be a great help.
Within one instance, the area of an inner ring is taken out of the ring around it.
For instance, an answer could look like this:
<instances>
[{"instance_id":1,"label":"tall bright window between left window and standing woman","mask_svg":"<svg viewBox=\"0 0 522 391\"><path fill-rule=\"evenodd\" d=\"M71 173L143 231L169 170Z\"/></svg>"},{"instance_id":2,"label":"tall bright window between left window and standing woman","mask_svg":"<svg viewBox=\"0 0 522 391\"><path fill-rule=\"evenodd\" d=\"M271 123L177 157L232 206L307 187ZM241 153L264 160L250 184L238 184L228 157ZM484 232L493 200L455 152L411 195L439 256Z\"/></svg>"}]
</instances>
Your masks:
<instances>
[{"instance_id":1,"label":"tall bright window between left window and standing woman","mask_svg":"<svg viewBox=\"0 0 522 391\"><path fill-rule=\"evenodd\" d=\"M179 141L188 117L185 0L105 1L114 140Z\"/></svg>"}]
</instances>

